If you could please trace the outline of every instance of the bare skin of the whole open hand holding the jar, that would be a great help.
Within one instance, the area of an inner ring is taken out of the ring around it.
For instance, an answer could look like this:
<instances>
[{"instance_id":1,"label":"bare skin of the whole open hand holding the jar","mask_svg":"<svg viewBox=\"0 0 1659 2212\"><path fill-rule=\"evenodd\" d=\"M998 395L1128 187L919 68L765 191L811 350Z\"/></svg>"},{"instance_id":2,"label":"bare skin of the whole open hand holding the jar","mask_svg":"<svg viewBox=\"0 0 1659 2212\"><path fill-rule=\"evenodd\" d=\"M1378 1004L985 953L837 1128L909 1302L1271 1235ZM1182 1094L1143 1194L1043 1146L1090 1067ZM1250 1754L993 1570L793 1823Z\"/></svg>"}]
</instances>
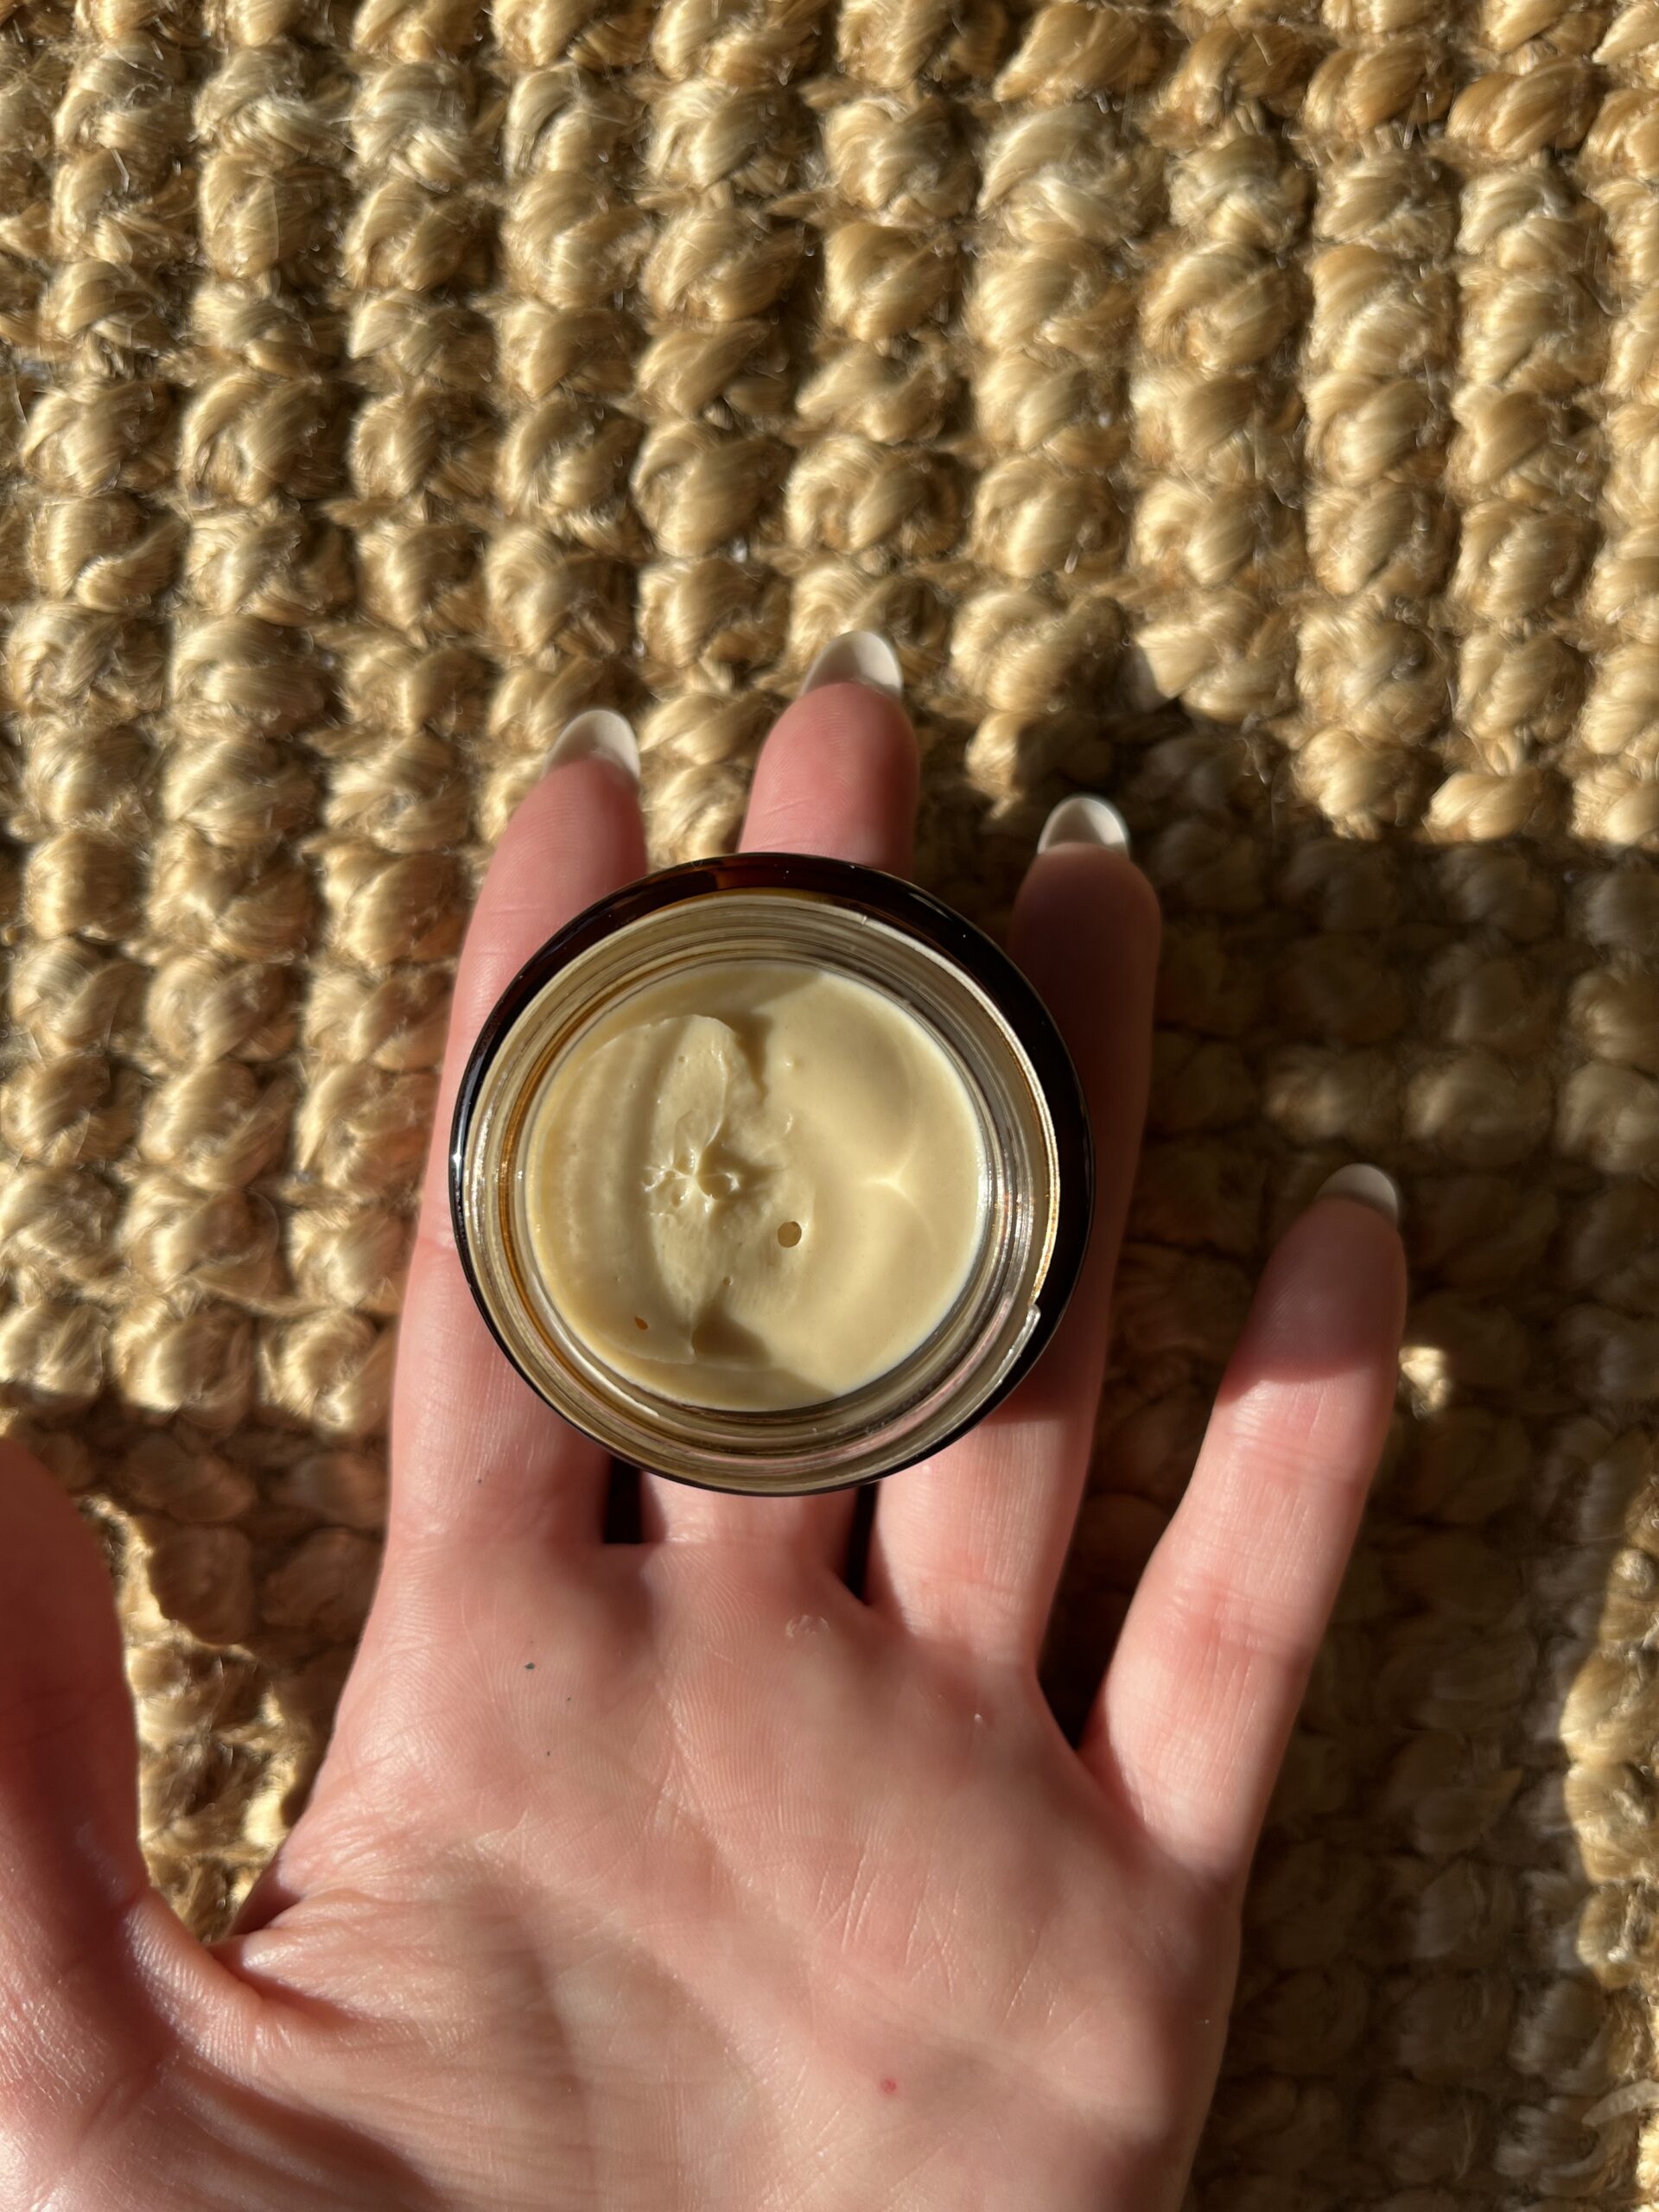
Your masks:
<instances>
[{"instance_id":1,"label":"bare skin of the whole open hand holding the jar","mask_svg":"<svg viewBox=\"0 0 1659 2212\"><path fill-rule=\"evenodd\" d=\"M745 843L902 869L916 748L801 699ZM566 916L644 869L628 779L513 821L449 1086ZM0 1447L0 2201L409 2212L1168 2212L1239 1905L1391 1396L1405 1272L1316 1201L1274 1252L1082 1747L1037 1646L1084 1484L1139 1141L1157 909L1095 847L1011 931L1091 1093L1102 1208L1040 1367L852 1504L644 1482L491 1347L434 1157L385 1573L310 1809L199 1947L135 1843L133 1712L73 1506ZM438 1128L447 1128L447 1104Z\"/></svg>"}]
</instances>

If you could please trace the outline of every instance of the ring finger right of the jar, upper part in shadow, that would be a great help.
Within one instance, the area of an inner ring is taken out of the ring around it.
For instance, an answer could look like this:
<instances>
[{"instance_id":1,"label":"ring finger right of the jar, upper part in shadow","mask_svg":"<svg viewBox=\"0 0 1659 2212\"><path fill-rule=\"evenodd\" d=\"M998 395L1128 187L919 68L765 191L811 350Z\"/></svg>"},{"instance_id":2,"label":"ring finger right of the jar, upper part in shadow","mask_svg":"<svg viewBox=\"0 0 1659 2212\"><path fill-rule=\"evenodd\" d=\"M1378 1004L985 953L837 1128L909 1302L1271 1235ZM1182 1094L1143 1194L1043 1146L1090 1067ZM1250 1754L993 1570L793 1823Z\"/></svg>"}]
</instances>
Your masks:
<instances>
[{"instance_id":1,"label":"ring finger right of the jar, upper part in shadow","mask_svg":"<svg viewBox=\"0 0 1659 2212\"><path fill-rule=\"evenodd\" d=\"M1055 1338L960 1444L876 1502L869 1595L918 1635L1035 1663L1077 1517L1106 1363L1110 1283L1146 1117L1159 918L1124 852L1062 843L1015 902L1011 951L1077 1064L1095 1137L1095 1223Z\"/></svg>"}]
</instances>

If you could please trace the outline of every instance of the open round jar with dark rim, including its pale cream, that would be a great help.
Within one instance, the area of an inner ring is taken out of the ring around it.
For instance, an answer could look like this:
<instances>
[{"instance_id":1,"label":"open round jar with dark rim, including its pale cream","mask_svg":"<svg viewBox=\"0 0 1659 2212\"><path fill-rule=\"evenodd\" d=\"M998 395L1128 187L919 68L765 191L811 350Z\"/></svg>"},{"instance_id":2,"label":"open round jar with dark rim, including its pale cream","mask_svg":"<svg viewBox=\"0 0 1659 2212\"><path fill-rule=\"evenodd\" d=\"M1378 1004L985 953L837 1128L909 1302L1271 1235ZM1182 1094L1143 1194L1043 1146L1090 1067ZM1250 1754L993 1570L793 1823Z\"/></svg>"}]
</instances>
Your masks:
<instances>
[{"instance_id":1,"label":"open round jar with dark rim, including its pale cream","mask_svg":"<svg viewBox=\"0 0 1659 2212\"><path fill-rule=\"evenodd\" d=\"M1093 1155L1060 1031L971 922L876 869L739 854L524 964L460 1082L449 1192L484 1321L566 1420L681 1482L799 1493L927 1458L1013 1389L1077 1281Z\"/></svg>"}]
</instances>

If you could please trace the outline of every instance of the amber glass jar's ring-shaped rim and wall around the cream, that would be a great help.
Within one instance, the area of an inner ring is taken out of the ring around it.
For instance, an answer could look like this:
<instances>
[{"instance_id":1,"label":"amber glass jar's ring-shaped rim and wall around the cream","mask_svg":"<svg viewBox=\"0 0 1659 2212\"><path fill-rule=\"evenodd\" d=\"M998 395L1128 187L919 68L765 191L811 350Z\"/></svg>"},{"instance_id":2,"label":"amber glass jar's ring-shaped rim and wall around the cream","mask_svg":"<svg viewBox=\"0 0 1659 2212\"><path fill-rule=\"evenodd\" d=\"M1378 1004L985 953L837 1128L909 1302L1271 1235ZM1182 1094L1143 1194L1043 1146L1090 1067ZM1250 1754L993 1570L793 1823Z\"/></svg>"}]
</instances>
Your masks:
<instances>
[{"instance_id":1,"label":"amber glass jar's ring-shaped rim and wall around the cream","mask_svg":"<svg viewBox=\"0 0 1659 2212\"><path fill-rule=\"evenodd\" d=\"M885 993L949 1055L980 1124L978 1250L945 1318L838 1398L732 1411L617 1374L566 1323L533 1261L524 1133L597 1020L699 964L803 964ZM568 922L507 987L467 1062L449 1144L460 1261L507 1358L622 1460L721 1491L827 1491L940 1451L1004 1398L1082 1267L1093 1150L1046 1006L982 931L896 876L801 854L692 860Z\"/></svg>"}]
</instances>

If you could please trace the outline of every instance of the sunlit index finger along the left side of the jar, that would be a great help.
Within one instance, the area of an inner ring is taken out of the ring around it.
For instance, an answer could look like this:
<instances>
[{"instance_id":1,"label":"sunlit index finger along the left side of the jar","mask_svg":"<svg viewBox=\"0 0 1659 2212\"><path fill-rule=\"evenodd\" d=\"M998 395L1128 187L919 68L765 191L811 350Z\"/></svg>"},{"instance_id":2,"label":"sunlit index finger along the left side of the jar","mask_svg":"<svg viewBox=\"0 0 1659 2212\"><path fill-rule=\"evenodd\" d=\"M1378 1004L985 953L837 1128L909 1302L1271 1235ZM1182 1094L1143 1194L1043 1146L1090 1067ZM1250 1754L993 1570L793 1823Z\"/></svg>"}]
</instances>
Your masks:
<instances>
[{"instance_id":1,"label":"sunlit index finger along the left side of the jar","mask_svg":"<svg viewBox=\"0 0 1659 2212\"><path fill-rule=\"evenodd\" d=\"M447 1144L467 1055L504 987L555 929L644 867L635 783L602 757L553 768L489 865L456 975L398 1329L387 1573L416 1544L453 1562L456 1544L599 1537L606 1453L520 1380L484 1327L456 1256Z\"/></svg>"}]
</instances>

